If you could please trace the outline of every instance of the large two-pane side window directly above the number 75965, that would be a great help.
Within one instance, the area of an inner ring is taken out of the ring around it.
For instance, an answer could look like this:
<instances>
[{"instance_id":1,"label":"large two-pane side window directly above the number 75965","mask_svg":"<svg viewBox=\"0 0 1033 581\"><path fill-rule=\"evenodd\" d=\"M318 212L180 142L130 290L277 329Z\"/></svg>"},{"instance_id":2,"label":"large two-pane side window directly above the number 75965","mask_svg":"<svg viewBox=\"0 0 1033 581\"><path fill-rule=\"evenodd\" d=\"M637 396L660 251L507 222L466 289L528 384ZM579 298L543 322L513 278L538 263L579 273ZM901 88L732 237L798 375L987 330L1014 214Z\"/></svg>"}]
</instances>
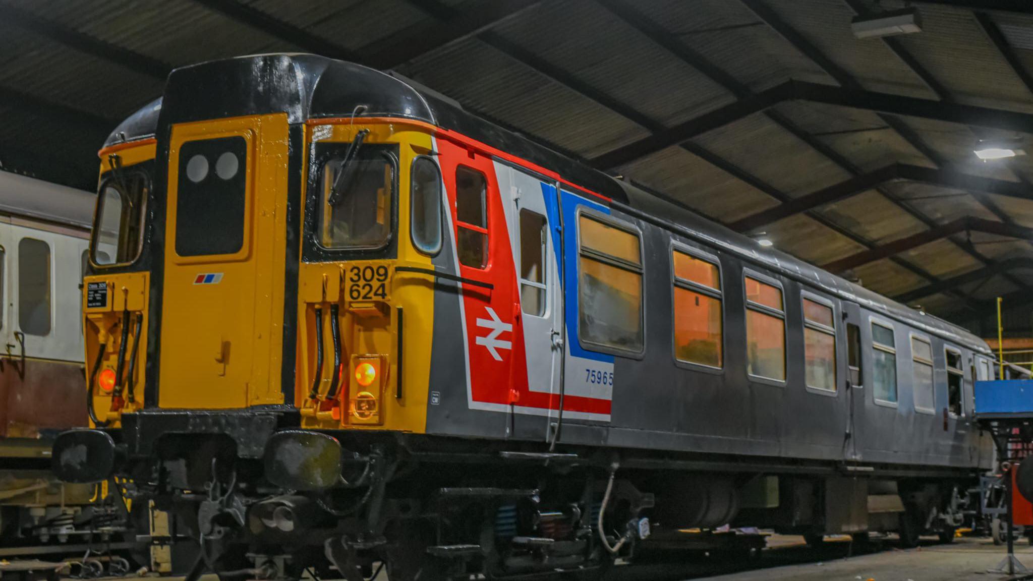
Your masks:
<instances>
[{"instance_id":1,"label":"large two-pane side window directly above the number 75965","mask_svg":"<svg viewBox=\"0 0 1033 581\"><path fill-rule=\"evenodd\" d=\"M577 230L581 340L640 353L643 266L638 236L584 214Z\"/></svg>"}]
</instances>

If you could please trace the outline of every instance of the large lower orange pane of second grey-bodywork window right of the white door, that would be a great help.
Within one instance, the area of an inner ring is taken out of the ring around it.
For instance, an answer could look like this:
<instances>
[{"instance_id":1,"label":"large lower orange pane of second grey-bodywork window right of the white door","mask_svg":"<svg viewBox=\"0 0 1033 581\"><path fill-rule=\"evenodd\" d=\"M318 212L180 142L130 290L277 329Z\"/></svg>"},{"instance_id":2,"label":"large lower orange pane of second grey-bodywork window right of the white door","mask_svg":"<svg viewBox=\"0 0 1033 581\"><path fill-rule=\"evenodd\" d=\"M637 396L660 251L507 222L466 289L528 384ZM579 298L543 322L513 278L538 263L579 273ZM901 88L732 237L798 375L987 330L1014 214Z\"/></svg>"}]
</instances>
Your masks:
<instances>
[{"instance_id":1,"label":"large lower orange pane of second grey-bodywork window right of the white door","mask_svg":"<svg viewBox=\"0 0 1033 581\"><path fill-rule=\"evenodd\" d=\"M721 299L675 287L675 357L721 367Z\"/></svg>"}]
</instances>

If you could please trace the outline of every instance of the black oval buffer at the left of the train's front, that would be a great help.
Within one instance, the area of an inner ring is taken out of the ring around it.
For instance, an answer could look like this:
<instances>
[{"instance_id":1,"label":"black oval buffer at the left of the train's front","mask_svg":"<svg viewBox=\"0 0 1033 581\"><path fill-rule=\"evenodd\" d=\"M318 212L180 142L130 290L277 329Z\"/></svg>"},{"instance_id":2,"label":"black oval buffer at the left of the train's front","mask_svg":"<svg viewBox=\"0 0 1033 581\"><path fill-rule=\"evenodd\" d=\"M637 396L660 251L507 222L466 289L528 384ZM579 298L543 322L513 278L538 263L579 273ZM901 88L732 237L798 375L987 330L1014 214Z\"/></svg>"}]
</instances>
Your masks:
<instances>
[{"instance_id":1,"label":"black oval buffer at the left of the train's front","mask_svg":"<svg viewBox=\"0 0 1033 581\"><path fill-rule=\"evenodd\" d=\"M115 440L107 432L68 430L54 440L52 467L63 482L102 482L115 471Z\"/></svg>"}]
</instances>

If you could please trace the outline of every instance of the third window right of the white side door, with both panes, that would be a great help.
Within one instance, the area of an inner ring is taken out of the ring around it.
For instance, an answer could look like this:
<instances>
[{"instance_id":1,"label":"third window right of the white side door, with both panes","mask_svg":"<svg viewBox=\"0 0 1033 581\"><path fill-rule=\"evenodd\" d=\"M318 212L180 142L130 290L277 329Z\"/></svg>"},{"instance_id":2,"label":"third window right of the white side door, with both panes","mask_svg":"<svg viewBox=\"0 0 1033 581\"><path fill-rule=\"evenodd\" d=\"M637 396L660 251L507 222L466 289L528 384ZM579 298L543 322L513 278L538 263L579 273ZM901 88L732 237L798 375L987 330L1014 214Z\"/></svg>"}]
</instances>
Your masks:
<instances>
[{"instance_id":1,"label":"third window right of the white side door, with both panes","mask_svg":"<svg viewBox=\"0 0 1033 581\"><path fill-rule=\"evenodd\" d=\"M746 371L785 380L785 307L782 289L746 277Z\"/></svg>"}]
</instances>

